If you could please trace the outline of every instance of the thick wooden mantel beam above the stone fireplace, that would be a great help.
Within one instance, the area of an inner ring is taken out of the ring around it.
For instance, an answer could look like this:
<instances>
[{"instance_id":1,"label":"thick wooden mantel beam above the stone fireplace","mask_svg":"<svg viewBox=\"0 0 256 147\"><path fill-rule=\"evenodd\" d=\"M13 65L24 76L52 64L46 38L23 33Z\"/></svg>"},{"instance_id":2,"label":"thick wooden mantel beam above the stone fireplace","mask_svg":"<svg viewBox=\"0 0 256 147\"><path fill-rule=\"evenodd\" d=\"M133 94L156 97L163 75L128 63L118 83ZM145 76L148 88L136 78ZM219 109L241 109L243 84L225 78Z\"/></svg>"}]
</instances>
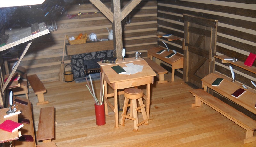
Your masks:
<instances>
[{"instance_id":1,"label":"thick wooden mantel beam above the stone fireplace","mask_svg":"<svg viewBox=\"0 0 256 147\"><path fill-rule=\"evenodd\" d=\"M86 42L84 44L70 45L66 44L66 54L76 55L83 53L90 53L103 50L114 50L113 40L108 41L97 41L97 42Z\"/></svg>"}]
</instances>

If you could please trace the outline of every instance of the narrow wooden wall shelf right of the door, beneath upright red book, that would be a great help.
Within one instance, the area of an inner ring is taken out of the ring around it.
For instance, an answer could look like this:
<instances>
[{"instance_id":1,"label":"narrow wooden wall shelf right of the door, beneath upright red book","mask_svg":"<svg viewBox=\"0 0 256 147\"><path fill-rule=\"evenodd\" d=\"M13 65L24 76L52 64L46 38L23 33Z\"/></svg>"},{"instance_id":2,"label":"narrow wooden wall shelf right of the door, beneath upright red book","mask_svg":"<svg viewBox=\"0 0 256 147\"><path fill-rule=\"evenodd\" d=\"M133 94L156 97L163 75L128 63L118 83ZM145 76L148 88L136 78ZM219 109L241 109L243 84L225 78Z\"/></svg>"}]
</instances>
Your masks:
<instances>
[{"instance_id":1,"label":"narrow wooden wall shelf right of the door, beneath upright red book","mask_svg":"<svg viewBox=\"0 0 256 147\"><path fill-rule=\"evenodd\" d=\"M250 71L250 72L256 74L256 67L255 67L255 66L252 66L252 67L246 66L246 65L244 65L244 62L241 62L241 61L239 61L239 60L236 61L236 62L232 62L232 61L230 61L230 60L224 60L224 59L232 59L231 57L228 57L228 56L226 56L226 55L214 56L214 57L215 57L215 58L218 58L218 59L220 59L220 60L222 60L222 61L221 61L222 63L230 63L230 64L232 64L232 65L238 66L238 67L240 67L240 68L243 68L243 69L245 69L245 70L247 70L247 71Z\"/></svg>"}]
</instances>

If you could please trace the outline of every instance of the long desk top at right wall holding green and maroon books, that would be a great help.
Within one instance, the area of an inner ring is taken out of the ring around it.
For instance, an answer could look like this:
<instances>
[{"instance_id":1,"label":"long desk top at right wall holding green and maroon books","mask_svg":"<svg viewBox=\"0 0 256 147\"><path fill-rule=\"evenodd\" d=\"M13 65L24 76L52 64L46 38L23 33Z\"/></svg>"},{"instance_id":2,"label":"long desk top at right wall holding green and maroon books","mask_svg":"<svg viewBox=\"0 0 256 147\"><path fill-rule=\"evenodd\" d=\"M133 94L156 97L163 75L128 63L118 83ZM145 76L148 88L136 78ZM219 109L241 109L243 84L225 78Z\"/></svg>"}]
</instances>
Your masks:
<instances>
[{"instance_id":1,"label":"long desk top at right wall holding green and maroon books","mask_svg":"<svg viewBox=\"0 0 256 147\"><path fill-rule=\"evenodd\" d=\"M219 86L211 86L212 83L216 80L216 78L224 78L224 80L220 83ZM245 109L251 111L252 113L256 114L256 91L254 89L248 88L244 89L242 87L242 83L235 81L232 82L232 79L220 74L220 73L211 73L205 76L203 79L203 84L207 87L213 89L214 91L220 93L224 97L230 99L231 101L235 102L236 104L244 107ZM233 92L235 92L237 89L242 88L246 90L244 94L242 94L240 97L235 98L231 96Z\"/></svg>"}]
</instances>

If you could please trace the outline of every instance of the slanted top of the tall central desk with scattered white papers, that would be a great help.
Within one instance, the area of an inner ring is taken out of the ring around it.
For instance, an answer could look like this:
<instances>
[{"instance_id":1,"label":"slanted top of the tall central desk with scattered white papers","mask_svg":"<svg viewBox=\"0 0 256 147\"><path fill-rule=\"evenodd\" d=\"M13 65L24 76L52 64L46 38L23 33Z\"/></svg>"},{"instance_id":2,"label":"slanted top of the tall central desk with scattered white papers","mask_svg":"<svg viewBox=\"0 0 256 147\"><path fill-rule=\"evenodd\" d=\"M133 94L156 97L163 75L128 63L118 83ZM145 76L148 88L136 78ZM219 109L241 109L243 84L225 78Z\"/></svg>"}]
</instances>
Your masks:
<instances>
[{"instance_id":1,"label":"slanted top of the tall central desk with scattered white papers","mask_svg":"<svg viewBox=\"0 0 256 147\"><path fill-rule=\"evenodd\" d=\"M123 74L117 74L111 67L119 65L121 67L126 67L125 64L127 63L133 63L134 65L143 65L142 72L138 72L133 75L123 75ZM152 68L148 65L148 63L142 59L134 59L134 58L125 58L124 61L119 61L116 64L108 64L108 63L101 63L98 62L98 64L101 66L102 72L105 73L105 76L108 78L108 81L110 83L116 83L116 82L122 82L122 81L128 81L128 80L136 80L140 78L147 78L147 77L153 77L156 76L156 73L152 70Z\"/></svg>"}]
</instances>

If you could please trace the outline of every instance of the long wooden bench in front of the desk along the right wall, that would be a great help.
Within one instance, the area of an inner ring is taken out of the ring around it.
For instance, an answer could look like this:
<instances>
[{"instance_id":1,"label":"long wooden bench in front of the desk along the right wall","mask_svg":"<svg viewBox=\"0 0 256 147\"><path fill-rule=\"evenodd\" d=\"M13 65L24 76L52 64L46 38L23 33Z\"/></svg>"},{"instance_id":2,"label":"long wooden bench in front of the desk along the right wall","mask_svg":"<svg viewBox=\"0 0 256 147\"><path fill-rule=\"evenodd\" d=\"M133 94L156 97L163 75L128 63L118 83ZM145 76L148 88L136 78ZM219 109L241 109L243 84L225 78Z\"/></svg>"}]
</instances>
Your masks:
<instances>
[{"instance_id":1,"label":"long wooden bench in front of the desk along the right wall","mask_svg":"<svg viewBox=\"0 0 256 147\"><path fill-rule=\"evenodd\" d=\"M256 141L256 136L253 136L254 130L256 129L255 120L202 89L193 89L189 90L189 92L191 92L195 96L195 103L191 104L191 107L201 106L202 102L207 104L212 109L220 112L220 114L224 115L229 120L232 120L237 125L241 126L246 130L244 144Z\"/></svg>"}]
</instances>

